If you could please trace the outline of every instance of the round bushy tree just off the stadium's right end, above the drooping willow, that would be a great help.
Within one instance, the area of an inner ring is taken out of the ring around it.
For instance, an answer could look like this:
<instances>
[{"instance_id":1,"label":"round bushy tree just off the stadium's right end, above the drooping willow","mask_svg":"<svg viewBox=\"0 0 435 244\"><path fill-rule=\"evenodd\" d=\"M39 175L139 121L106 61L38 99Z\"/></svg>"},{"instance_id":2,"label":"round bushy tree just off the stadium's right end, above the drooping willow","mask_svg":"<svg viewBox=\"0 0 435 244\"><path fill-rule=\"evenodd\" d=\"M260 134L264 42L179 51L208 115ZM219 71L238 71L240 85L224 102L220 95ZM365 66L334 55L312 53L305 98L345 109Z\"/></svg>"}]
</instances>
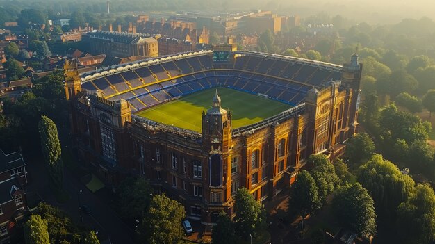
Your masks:
<instances>
[{"instance_id":1,"label":"round bushy tree just off the stadium's right end, above the drooping willow","mask_svg":"<svg viewBox=\"0 0 435 244\"><path fill-rule=\"evenodd\" d=\"M357 133L347 140L345 158L352 163L361 163L375 152L375 143L367 133Z\"/></svg>"}]
</instances>

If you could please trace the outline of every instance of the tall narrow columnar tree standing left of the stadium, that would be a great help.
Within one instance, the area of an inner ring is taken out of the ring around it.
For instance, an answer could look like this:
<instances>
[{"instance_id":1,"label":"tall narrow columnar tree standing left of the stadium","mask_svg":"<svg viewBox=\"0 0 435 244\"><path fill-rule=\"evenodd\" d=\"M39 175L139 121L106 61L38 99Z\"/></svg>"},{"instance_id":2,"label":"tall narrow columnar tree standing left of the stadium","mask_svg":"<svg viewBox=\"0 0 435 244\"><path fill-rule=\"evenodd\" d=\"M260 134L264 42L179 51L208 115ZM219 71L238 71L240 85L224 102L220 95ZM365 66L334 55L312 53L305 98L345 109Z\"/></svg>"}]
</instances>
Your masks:
<instances>
[{"instance_id":1,"label":"tall narrow columnar tree standing left of the stadium","mask_svg":"<svg viewBox=\"0 0 435 244\"><path fill-rule=\"evenodd\" d=\"M58 129L53 120L49 117L41 116L38 124L41 138L42 154L47 163L51 186L55 190L61 191L63 188L63 162L60 154L60 142L58 139Z\"/></svg>"}]
</instances>

